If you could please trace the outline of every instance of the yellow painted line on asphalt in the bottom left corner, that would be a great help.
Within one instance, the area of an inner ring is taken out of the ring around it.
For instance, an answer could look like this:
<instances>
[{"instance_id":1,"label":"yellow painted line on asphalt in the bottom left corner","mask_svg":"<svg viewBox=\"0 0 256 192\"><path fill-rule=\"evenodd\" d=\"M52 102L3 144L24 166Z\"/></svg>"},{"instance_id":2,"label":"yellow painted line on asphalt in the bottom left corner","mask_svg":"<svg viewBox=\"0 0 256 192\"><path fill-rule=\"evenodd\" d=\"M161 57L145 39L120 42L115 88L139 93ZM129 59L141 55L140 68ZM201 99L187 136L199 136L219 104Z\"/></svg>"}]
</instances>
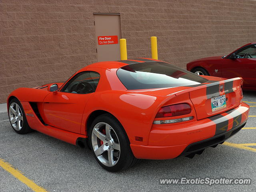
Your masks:
<instances>
[{"instance_id":1,"label":"yellow painted line on asphalt in the bottom left corner","mask_svg":"<svg viewBox=\"0 0 256 192\"><path fill-rule=\"evenodd\" d=\"M26 178L19 170L13 168L13 166L7 162L5 162L3 159L0 158L0 166L8 171L10 174L12 174L14 177L16 177L18 180L26 184L28 187L30 187L35 192L47 192L44 188L38 186L35 184L32 180Z\"/></svg>"}]
</instances>

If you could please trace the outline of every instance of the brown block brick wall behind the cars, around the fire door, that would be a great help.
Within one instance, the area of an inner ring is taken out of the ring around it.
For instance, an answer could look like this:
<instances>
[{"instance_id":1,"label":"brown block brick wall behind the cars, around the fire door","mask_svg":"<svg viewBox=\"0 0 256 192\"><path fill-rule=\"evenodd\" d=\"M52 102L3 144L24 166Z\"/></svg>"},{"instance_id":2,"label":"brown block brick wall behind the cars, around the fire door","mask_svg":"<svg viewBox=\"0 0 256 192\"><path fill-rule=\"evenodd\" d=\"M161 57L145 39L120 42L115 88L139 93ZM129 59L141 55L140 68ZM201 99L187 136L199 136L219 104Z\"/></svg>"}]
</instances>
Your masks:
<instances>
[{"instance_id":1,"label":"brown block brick wall behind the cars, around the fire door","mask_svg":"<svg viewBox=\"0 0 256 192\"><path fill-rule=\"evenodd\" d=\"M158 58L183 68L256 41L254 0L0 0L0 103L96 62L93 12L121 14L129 58L157 36Z\"/></svg>"}]
</instances>

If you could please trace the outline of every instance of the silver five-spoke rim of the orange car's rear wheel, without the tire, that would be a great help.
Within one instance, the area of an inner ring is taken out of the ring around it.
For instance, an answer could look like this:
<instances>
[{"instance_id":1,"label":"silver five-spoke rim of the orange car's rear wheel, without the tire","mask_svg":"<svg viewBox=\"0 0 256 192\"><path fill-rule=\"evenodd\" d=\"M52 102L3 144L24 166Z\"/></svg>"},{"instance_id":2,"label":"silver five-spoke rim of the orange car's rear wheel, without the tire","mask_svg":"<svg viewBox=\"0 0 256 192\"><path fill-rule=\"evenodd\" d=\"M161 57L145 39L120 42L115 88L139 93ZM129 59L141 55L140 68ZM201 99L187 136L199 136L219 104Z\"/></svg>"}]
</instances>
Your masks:
<instances>
[{"instance_id":1,"label":"silver five-spoke rim of the orange car's rear wheel, without the tire","mask_svg":"<svg viewBox=\"0 0 256 192\"><path fill-rule=\"evenodd\" d=\"M99 122L92 130L92 149L98 160L112 167L120 158L120 144L116 132L107 123Z\"/></svg>"}]
</instances>

